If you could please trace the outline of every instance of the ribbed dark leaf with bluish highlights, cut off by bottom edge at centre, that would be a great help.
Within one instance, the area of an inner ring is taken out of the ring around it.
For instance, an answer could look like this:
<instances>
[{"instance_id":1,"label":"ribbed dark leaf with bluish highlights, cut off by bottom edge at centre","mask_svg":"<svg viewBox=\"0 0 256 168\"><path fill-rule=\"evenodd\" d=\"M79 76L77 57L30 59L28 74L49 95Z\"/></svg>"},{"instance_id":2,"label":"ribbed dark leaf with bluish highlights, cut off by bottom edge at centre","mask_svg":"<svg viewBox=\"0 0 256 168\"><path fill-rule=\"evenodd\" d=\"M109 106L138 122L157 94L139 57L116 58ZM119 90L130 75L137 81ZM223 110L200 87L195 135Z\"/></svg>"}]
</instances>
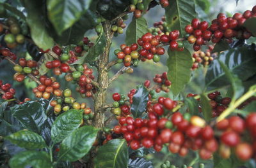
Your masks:
<instances>
[{"instance_id":1,"label":"ribbed dark leaf with bluish highlights, cut off by bottom edge at centre","mask_svg":"<svg viewBox=\"0 0 256 168\"><path fill-rule=\"evenodd\" d=\"M152 162L145 160L143 157L129 159L128 168L154 168Z\"/></svg>"}]
</instances>

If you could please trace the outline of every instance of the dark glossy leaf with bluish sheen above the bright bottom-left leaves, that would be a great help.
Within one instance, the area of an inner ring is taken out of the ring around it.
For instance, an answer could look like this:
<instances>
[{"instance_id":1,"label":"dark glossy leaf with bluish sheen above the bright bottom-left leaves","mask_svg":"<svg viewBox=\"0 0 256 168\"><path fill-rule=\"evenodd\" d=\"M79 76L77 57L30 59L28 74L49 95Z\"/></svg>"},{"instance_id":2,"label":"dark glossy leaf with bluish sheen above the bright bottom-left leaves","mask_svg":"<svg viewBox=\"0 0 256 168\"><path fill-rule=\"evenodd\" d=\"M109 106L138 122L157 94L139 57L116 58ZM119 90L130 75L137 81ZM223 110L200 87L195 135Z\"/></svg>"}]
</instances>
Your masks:
<instances>
[{"instance_id":1,"label":"dark glossy leaf with bluish sheen above the bright bottom-left leaves","mask_svg":"<svg viewBox=\"0 0 256 168\"><path fill-rule=\"evenodd\" d=\"M47 116L42 104L35 101L25 102L11 108L12 115L19 120L25 129L40 134Z\"/></svg>"}]
</instances>

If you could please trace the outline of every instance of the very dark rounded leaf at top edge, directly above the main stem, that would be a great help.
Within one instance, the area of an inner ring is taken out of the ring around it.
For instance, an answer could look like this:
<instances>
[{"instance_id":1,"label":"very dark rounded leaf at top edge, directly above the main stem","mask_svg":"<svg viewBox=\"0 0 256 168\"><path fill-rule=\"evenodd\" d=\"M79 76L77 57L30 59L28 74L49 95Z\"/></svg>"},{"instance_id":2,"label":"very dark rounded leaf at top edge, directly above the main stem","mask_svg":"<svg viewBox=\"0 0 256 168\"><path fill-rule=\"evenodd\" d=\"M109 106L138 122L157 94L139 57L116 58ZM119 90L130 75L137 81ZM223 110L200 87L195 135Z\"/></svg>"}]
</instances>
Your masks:
<instances>
[{"instance_id":1,"label":"very dark rounded leaf at top edge, directly above the main stem","mask_svg":"<svg viewBox=\"0 0 256 168\"><path fill-rule=\"evenodd\" d=\"M127 0L99 1L97 11L102 17L111 20L123 13L129 4Z\"/></svg>"}]
</instances>

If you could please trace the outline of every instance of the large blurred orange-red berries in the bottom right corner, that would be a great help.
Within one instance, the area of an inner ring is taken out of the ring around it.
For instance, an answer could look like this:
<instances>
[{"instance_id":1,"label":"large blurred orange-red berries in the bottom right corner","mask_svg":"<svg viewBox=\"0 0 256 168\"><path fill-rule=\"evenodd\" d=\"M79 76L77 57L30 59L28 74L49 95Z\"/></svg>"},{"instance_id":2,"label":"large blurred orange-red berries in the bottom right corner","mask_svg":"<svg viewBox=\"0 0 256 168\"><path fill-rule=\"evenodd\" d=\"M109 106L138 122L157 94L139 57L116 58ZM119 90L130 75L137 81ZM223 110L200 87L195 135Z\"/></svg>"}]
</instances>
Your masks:
<instances>
[{"instance_id":1,"label":"large blurred orange-red berries in the bottom right corner","mask_svg":"<svg viewBox=\"0 0 256 168\"><path fill-rule=\"evenodd\" d=\"M237 157L243 161L256 157L255 126L256 113L250 113L245 119L239 116L231 116L216 123L217 129L222 131L220 136L221 157L230 157L230 148L235 148L234 151ZM247 134L246 132L248 132L249 136L244 136L244 134ZM246 138L242 140L241 137Z\"/></svg>"}]
</instances>

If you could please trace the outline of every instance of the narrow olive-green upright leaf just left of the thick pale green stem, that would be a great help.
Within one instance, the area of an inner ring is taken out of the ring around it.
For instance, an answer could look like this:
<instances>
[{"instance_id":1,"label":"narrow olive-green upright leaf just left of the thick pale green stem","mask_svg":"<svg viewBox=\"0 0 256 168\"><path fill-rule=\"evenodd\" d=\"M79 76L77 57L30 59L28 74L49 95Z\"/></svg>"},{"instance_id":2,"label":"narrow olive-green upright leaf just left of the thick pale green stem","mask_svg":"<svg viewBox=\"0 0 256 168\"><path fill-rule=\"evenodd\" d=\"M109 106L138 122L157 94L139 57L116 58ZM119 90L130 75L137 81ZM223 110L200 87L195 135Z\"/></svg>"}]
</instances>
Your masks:
<instances>
[{"instance_id":1,"label":"narrow olive-green upright leaf just left of the thick pale green stem","mask_svg":"<svg viewBox=\"0 0 256 168\"><path fill-rule=\"evenodd\" d=\"M212 118L212 108L209 104L209 101L205 94L200 95L201 106L202 106L202 113L204 115L204 119L209 122Z\"/></svg>"}]
</instances>

